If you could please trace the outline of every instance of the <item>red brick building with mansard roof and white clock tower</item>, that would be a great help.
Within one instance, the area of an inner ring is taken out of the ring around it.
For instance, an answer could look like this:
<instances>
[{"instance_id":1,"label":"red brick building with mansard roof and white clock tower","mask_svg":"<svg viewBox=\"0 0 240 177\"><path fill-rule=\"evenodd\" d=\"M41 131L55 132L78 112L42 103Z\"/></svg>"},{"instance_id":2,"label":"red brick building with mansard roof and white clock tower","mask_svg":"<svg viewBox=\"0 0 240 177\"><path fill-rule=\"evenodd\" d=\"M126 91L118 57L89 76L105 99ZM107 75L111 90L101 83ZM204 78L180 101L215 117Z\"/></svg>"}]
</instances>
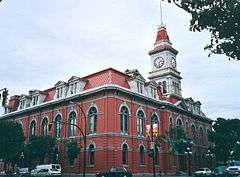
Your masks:
<instances>
[{"instance_id":1,"label":"red brick building with mansard roof and white clock tower","mask_svg":"<svg viewBox=\"0 0 240 177\"><path fill-rule=\"evenodd\" d=\"M151 173L146 125L158 124L160 134L165 134L170 126L182 126L195 140L192 168L204 166L202 159L208 147L211 120L201 111L199 101L182 97L177 53L166 28L160 27L154 49L149 52L152 63L149 80L144 79L138 70L120 72L113 68L85 77L73 76L44 91L32 90L28 95L12 96L8 113L1 119L20 122L27 138L47 135L49 123L57 121L77 124L84 131L82 108L87 118L87 173L112 166L125 166L133 173ZM79 130L72 125L54 123L53 136L58 141L63 169L81 172L83 148L71 166L63 143L73 138L82 145ZM167 144L156 149L157 172L186 169L185 155L172 155Z\"/></svg>"}]
</instances>

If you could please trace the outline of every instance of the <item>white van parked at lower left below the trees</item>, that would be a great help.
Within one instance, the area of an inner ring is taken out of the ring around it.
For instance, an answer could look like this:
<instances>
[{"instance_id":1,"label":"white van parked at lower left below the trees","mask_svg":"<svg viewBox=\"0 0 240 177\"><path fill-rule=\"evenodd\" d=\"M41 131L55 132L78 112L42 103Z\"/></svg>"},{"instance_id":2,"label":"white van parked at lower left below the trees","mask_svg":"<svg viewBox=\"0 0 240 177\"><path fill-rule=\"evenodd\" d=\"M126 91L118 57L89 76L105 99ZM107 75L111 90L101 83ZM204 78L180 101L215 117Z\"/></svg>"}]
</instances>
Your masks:
<instances>
[{"instance_id":1,"label":"white van parked at lower left below the trees","mask_svg":"<svg viewBox=\"0 0 240 177\"><path fill-rule=\"evenodd\" d=\"M47 164L37 165L35 169L31 171L33 177L50 177L50 176L62 176L62 169L60 164Z\"/></svg>"}]
</instances>

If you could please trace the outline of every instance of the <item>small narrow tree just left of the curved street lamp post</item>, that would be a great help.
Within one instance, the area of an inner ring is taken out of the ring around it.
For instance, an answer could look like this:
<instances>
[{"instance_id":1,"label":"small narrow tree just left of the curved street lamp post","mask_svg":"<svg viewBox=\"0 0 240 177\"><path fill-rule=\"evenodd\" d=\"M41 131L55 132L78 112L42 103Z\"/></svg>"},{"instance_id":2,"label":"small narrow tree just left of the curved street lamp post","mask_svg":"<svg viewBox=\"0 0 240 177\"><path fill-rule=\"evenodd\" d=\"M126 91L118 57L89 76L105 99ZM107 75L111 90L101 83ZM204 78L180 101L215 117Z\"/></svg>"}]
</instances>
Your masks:
<instances>
[{"instance_id":1,"label":"small narrow tree just left of the curved street lamp post","mask_svg":"<svg viewBox=\"0 0 240 177\"><path fill-rule=\"evenodd\" d=\"M73 165L74 160L77 158L80 153L80 148L77 146L77 141L69 140L66 142L67 155L70 165Z\"/></svg>"}]
</instances>

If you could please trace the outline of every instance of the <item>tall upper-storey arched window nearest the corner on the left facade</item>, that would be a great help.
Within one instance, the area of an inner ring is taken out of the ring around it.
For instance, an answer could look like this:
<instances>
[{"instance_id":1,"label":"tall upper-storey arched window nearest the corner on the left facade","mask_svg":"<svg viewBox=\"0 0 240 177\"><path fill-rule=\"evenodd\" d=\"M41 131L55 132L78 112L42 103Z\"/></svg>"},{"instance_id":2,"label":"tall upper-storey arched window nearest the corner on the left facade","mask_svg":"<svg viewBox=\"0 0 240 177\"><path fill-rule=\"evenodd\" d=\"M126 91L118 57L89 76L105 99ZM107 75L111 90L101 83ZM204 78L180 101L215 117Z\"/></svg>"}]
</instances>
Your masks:
<instances>
[{"instance_id":1,"label":"tall upper-storey arched window nearest the corner on the left facade","mask_svg":"<svg viewBox=\"0 0 240 177\"><path fill-rule=\"evenodd\" d=\"M97 109L95 107L91 107L88 111L88 130L90 134L97 131Z\"/></svg>"}]
</instances>

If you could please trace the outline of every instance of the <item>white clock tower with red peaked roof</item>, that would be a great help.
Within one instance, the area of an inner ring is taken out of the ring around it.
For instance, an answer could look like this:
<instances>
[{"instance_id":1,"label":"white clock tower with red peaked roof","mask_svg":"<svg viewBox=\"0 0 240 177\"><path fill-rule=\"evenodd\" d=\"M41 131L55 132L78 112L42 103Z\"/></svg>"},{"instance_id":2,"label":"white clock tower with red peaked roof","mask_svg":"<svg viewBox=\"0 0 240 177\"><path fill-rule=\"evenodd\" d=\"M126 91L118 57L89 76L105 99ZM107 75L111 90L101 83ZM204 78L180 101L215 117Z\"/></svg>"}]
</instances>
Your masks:
<instances>
[{"instance_id":1,"label":"white clock tower with red peaked roof","mask_svg":"<svg viewBox=\"0 0 240 177\"><path fill-rule=\"evenodd\" d=\"M166 27L160 26L154 49L149 52L152 71L149 79L162 86L162 93L168 97L181 97L180 72L177 71L176 56L178 51L172 47Z\"/></svg>"}]
</instances>

